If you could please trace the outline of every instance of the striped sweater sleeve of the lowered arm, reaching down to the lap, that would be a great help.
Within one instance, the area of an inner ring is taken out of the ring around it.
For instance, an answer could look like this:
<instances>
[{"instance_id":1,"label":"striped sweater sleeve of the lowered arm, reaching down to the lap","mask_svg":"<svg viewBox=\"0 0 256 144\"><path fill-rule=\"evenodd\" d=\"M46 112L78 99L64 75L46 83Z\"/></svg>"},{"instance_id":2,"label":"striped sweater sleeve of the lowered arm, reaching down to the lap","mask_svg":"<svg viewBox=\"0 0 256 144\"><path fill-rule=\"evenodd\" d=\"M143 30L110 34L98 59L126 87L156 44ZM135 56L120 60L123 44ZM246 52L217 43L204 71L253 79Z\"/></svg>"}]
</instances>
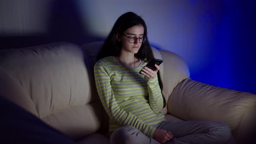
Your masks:
<instances>
[{"instance_id":1,"label":"striped sweater sleeve of the lowered arm, reaching down to the lap","mask_svg":"<svg viewBox=\"0 0 256 144\"><path fill-rule=\"evenodd\" d=\"M99 98L109 118L123 126L132 125L148 137L152 138L156 128L145 124L137 116L126 112L119 107L112 89L110 80L111 75L107 64L104 62L97 62L94 66L94 75Z\"/></svg>"}]
</instances>

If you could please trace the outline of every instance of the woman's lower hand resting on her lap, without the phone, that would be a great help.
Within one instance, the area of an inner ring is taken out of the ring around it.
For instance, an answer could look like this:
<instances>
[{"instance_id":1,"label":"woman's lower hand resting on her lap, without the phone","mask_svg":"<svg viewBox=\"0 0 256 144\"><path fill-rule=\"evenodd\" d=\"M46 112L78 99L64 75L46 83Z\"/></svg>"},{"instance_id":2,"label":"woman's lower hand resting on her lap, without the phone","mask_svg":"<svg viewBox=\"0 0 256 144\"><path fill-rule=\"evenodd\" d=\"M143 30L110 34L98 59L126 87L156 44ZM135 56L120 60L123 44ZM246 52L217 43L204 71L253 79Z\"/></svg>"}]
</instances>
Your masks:
<instances>
[{"instance_id":1,"label":"woman's lower hand resting on her lap, without the phone","mask_svg":"<svg viewBox=\"0 0 256 144\"><path fill-rule=\"evenodd\" d=\"M171 132L167 132L165 130L157 128L154 131L153 138L157 140L160 144L165 144L170 141L174 136Z\"/></svg>"}]
</instances>

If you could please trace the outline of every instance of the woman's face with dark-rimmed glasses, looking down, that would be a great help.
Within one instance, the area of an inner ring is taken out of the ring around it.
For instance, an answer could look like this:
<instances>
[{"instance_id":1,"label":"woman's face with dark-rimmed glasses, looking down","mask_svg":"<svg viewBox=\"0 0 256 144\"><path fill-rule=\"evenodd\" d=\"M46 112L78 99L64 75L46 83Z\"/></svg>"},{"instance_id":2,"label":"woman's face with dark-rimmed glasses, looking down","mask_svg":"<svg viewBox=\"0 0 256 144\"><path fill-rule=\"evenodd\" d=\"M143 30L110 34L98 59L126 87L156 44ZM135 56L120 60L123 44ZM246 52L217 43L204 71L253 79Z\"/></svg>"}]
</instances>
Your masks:
<instances>
[{"instance_id":1,"label":"woman's face with dark-rimmed glasses, looking down","mask_svg":"<svg viewBox=\"0 0 256 144\"><path fill-rule=\"evenodd\" d=\"M133 54L137 53L141 47L139 39L136 39L134 43L130 43L132 42L132 39L130 39L129 42L129 38L143 38L143 36L144 27L142 25L136 25L126 29L122 35L118 33L116 38L122 44L121 52L130 52Z\"/></svg>"}]
</instances>

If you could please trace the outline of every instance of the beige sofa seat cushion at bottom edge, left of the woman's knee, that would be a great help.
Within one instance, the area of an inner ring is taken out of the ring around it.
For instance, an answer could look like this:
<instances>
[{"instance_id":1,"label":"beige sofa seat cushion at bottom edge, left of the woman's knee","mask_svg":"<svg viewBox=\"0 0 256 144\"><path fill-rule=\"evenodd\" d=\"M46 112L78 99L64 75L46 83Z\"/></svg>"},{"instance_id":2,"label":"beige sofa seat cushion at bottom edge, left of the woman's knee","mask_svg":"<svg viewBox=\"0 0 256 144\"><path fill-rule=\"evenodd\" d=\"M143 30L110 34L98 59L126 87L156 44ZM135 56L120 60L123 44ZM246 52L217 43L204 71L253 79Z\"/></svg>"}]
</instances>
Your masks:
<instances>
[{"instance_id":1,"label":"beige sofa seat cushion at bottom edge, left of the woman's knee","mask_svg":"<svg viewBox=\"0 0 256 144\"><path fill-rule=\"evenodd\" d=\"M76 142L77 144L110 144L109 138L100 133L87 135Z\"/></svg>"}]
</instances>

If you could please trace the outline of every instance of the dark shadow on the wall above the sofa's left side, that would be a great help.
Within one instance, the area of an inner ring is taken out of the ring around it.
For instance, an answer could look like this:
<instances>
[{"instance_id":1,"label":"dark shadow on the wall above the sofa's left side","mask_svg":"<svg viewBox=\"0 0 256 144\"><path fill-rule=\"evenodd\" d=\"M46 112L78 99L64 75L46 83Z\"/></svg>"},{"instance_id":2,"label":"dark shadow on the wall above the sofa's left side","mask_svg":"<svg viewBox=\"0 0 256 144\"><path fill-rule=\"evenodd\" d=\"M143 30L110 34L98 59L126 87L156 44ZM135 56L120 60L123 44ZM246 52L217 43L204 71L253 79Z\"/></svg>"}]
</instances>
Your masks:
<instances>
[{"instance_id":1,"label":"dark shadow on the wall above the sofa's left side","mask_svg":"<svg viewBox=\"0 0 256 144\"><path fill-rule=\"evenodd\" d=\"M20 2L16 2L18 4ZM0 49L13 49L36 46L47 43L65 41L82 45L84 43L104 41L90 35L83 23L82 13L79 13L75 0L49 0L49 16L47 17L47 31L38 35L22 34L19 36L1 36ZM29 19L26 19L29 20ZM15 20L14 20L15 21Z\"/></svg>"}]
</instances>

